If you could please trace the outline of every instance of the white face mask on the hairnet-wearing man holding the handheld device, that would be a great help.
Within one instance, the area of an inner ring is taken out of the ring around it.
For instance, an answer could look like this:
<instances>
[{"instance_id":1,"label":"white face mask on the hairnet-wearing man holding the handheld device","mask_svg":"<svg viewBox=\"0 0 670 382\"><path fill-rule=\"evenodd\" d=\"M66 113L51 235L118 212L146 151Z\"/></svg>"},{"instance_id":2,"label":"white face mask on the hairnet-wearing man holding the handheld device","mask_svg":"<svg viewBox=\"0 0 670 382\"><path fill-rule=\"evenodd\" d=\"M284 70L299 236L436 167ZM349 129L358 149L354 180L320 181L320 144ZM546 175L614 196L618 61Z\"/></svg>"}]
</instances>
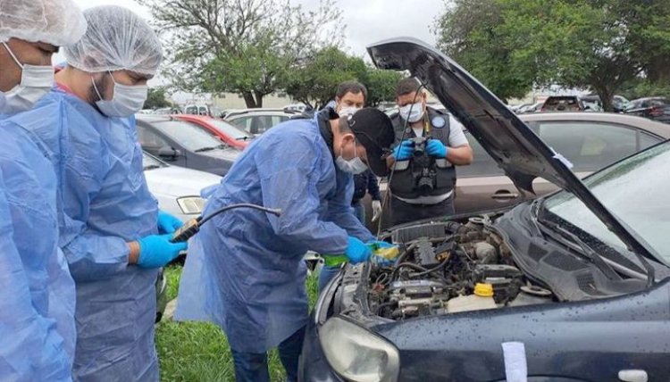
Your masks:
<instances>
[{"instance_id":1,"label":"white face mask on the hairnet-wearing man holding the handheld device","mask_svg":"<svg viewBox=\"0 0 670 382\"><path fill-rule=\"evenodd\" d=\"M97 90L96 81L91 77L93 88L96 90L97 97L100 98L100 101L96 102L100 112L103 112L107 117L128 118L142 110L145 101L147 101L149 87L147 85L121 85L114 81L112 73L109 73L109 75L114 83L112 101L103 99L103 96Z\"/></svg>"}]
</instances>

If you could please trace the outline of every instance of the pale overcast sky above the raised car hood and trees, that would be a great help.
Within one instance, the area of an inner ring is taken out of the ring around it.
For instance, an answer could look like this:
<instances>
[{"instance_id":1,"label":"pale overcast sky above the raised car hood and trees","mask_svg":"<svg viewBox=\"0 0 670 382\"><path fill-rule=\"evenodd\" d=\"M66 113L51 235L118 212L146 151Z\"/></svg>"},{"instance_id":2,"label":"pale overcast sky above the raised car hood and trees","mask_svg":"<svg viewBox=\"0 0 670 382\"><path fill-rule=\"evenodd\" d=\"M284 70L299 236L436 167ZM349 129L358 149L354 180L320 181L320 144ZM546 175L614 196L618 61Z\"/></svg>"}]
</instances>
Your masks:
<instances>
[{"instance_id":1,"label":"pale overcast sky above the raised car hood and trees","mask_svg":"<svg viewBox=\"0 0 670 382\"><path fill-rule=\"evenodd\" d=\"M148 9L133 0L74 0L82 9L117 4L150 18ZM319 0L292 0L314 9ZM344 46L350 54L366 56L365 46L389 37L409 36L434 45L431 26L444 9L444 0L336 0L347 24ZM57 58L63 61L63 57Z\"/></svg>"}]
</instances>

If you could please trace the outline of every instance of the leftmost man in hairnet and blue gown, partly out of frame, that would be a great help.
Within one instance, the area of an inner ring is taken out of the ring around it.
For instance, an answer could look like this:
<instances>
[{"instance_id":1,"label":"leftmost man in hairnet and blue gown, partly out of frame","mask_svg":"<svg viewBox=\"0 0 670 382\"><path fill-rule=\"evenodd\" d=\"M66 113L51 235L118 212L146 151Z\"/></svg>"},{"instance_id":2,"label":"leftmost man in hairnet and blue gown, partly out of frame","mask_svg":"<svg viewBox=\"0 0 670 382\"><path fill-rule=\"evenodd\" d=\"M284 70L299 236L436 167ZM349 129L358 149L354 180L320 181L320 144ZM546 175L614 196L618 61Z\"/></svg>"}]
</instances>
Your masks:
<instances>
[{"instance_id":1,"label":"leftmost man in hairnet and blue gown, partly out of frame","mask_svg":"<svg viewBox=\"0 0 670 382\"><path fill-rule=\"evenodd\" d=\"M58 247L56 178L11 125L54 85L51 57L87 23L71 0L0 0L0 380L68 381L75 286Z\"/></svg>"}]
</instances>

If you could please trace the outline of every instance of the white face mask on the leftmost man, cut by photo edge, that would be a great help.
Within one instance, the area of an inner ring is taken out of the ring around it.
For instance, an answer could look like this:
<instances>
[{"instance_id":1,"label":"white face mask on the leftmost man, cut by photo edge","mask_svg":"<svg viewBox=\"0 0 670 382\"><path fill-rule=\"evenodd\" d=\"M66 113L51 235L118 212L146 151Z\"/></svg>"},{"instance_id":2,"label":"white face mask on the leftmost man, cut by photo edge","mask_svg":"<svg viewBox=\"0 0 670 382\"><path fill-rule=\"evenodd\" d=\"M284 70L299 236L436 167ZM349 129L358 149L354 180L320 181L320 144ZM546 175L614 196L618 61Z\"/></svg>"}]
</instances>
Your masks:
<instances>
[{"instance_id":1,"label":"white face mask on the leftmost man, cut by photo edge","mask_svg":"<svg viewBox=\"0 0 670 382\"><path fill-rule=\"evenodd\" d=\"M21 68L21 83L0 96L0 114L13 114L30 110L40 98L47 95L54 85L54 68L22 64L12 50L3 43L4 48Z\"/></svg>"}]
</instances>

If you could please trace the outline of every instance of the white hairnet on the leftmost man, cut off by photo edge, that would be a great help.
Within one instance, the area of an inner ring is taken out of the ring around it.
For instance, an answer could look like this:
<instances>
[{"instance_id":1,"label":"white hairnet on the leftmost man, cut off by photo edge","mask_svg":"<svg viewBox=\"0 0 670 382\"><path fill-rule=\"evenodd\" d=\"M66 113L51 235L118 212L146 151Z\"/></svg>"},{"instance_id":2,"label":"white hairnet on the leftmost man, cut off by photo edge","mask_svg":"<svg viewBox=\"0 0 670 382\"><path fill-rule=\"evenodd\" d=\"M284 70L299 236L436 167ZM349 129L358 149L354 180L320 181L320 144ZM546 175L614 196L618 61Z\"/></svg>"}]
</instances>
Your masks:
<instances>
[{"instance_id":1,"label":"white hairnet on the leftmost man, cut off by photo edge","mask_svg":"<svg viewBox=\"0 0 670 382\"><path fill-rule=\"evenodd\" d=\"M0 0L0 42L20 38L67 46L86 32L86 20L72 0Z\"/></svg>"}]
</instances>

